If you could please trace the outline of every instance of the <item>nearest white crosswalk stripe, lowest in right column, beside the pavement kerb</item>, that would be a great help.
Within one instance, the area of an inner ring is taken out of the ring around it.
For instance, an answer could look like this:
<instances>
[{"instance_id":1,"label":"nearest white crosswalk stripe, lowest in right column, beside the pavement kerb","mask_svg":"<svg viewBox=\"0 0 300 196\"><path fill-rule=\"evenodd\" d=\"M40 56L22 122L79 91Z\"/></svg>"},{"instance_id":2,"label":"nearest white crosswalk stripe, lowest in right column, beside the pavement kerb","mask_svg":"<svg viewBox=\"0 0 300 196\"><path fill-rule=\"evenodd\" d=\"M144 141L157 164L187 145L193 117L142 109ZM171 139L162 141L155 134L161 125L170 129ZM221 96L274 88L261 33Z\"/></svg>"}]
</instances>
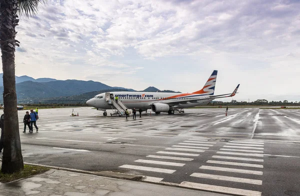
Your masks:
<instances>
[{"instance_id":1,"label":"nearest white crosswalk stripe, lowest in right column, beside the pavement kerb","mask_svg":"<svg viewBox=\"0 0 300 196\"><path fill-rule=\"evenodd\" d=\"M246 190L240 188L230 188L225 186L216 186L216 185L202 184L202 183L194 183L189 181L183 181L179 185L188 188L223 192L228 194L236 194L236 195L243 195L243 196L261 196L261 192L259 191Z\"/></svg>"}]
</instances>

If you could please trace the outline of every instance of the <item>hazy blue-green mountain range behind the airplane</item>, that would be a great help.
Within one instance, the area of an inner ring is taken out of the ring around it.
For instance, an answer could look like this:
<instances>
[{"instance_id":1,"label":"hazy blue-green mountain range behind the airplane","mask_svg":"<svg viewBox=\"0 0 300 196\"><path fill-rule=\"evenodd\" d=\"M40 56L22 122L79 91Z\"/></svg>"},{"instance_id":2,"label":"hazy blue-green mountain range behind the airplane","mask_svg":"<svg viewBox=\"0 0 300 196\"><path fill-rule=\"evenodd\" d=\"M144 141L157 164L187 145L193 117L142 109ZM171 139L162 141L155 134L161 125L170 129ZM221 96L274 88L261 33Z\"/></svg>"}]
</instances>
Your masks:
<instances>
[{"instance_id":1,"label":"hazy blue-green mountain range behind the airplane","mask_svg":"<svg viewBox=\"0 0 300 196\"><path fill-rule=\"evenodd\" d=\"M2 76L2 73L0 73ZM44 102L53 101L68 103L83 102L88 98L105 91L136 91L131 88L113 87L98 81L83 81L76 79L57 80L53 78L37 78L27 75L15 76L17 102ZM3 81L0 82L0 91L3 91ZM147 92L174 92L171 90L159 90L153 86L142 90ZM3 102L0 96L0 102Z\"/></svg>"}]
</instances>

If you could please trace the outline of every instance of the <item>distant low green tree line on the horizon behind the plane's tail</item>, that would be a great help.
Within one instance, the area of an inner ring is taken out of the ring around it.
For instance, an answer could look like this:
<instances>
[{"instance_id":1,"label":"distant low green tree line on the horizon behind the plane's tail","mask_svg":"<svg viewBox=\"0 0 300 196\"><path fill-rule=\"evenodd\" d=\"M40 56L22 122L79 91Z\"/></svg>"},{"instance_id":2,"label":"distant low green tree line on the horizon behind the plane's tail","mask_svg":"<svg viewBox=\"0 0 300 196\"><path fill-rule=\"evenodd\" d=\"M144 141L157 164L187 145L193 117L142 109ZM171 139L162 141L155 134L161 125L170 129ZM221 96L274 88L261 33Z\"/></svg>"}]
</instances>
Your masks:
<instances>
[{"instance_id":1,"label":"distant low green tree line on the horizon behind the plane's tail","mask_svg":"<svg viewBox=\"0 0 300 196\"><path fill-rule=\"evenodd\" d=\"M208 103L209 105L300 105L300 101L291 101L288 102L287 100L283 101L268 101L266 99L257 99L255 101L236 101L236 100L231 100L229 102L223 102L223 101L211 101Z\"/></svg>"}]
</instances>

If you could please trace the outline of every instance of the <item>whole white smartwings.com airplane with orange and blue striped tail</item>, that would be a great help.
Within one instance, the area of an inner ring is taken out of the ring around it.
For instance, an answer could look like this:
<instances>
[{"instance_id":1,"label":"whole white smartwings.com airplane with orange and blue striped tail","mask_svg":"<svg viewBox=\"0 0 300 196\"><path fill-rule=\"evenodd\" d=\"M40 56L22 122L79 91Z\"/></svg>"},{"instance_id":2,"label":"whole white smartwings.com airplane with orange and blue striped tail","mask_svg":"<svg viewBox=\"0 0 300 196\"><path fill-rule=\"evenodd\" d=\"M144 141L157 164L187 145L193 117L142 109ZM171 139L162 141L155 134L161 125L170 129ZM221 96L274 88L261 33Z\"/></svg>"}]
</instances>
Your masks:
<instances>
[{"instance_id":1,"label":"whole white smartwings.com airplane with orange and blue striped tail","mask_svg":"<svg viewBox=\"0 0 300 196\"><path fill-rule=\"evenodd\" d=\"M214 95L217 70L213 70L202 89L192 93L174 93L174 92L135 92L119 91L104 92L97 94L86 101L86 104L102 110L103 115L107 115L106 109L119 107L133 109L142 108L142 110L151 109L156 114L168 112L173 114L175 110L184 112L183 108L194 107L207 104L215 98L231 97L237 92L239 84L232 93ZM118 96L119 105L115 104L114 98ZM113 106L112 106L113 105ZM125 107L124 107L125 106Z\"/></svg>"}]
</instances>

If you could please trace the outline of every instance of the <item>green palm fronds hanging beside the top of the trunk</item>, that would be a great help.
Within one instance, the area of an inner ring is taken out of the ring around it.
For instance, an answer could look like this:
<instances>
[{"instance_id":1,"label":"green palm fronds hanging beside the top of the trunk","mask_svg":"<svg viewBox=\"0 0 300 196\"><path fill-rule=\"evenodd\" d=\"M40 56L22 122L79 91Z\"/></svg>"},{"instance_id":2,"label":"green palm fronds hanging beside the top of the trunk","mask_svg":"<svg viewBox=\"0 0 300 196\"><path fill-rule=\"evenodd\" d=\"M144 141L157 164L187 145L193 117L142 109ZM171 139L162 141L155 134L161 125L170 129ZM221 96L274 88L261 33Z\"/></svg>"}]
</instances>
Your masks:
<instances>
[{"instance_id":1,"label":"green palm fronds hanging beside the top of the trunk","mask_svg":"<svg viewBox=\"0 0 300 196\"><path fill-rule=\"evenodd\" d=\"M17 5L19 7L19 14L24 14L26 17L33 16L36 14L38 9L38 4L45 4L47 0L17 0Z\"/></svg>"}]
</instances>

